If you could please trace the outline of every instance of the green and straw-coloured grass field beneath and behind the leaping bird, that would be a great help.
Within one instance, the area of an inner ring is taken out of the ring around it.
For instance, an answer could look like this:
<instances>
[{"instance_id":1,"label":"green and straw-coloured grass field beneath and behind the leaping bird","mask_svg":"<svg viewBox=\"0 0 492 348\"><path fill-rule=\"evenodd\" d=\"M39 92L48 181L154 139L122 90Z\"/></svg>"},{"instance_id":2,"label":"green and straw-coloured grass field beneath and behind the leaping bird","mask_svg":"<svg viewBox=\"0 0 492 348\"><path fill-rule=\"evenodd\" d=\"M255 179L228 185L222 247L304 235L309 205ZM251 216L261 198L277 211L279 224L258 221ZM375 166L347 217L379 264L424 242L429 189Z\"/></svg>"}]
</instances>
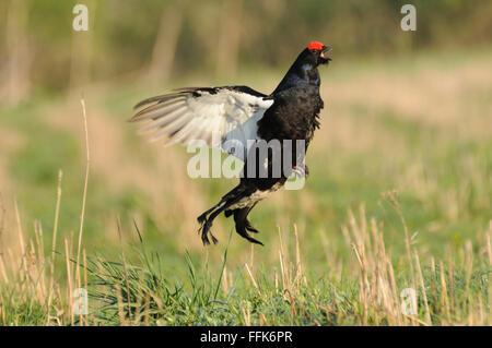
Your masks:
<instances>
[{"instance_id":1,"label":"green and straw-coloured grass field beneath and behind the leaping bird","mask_svg":"<svg viewBox=\"0 0 492 348\"><path fill-rule=\"evenodd\" d=\"M196 217L236 180L189 179L190 154L126 122L150 95L231 81L84 91L85 202L80 96L0 106L0 323L491 325L491 60L483 49L321 68L306 187L250 215L265 247L220 217L220 243L203 248ZM235 80L268 92L282 74ZM73 312L80 287L87 315ZM400 310L406 288L417 314Z\"/></svg>"}]
</instances>

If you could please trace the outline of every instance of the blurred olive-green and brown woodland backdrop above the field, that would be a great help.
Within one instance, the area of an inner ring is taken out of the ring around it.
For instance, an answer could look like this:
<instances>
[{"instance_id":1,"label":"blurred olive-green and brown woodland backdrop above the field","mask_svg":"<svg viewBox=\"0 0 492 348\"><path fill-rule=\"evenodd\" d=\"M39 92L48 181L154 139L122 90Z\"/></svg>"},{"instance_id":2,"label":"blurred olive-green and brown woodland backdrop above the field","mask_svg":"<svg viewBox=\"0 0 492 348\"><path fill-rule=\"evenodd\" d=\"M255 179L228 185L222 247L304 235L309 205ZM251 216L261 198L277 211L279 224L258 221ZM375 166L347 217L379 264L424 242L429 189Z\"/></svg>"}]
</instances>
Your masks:
<instances>
[{"instance_id":1,"label":"blurred olive-green and brown woodland backdrop above the field","mask_svg":"<svg viewBox=\"0 0 492 348\"><path fill-rule=\"evenodd\" d=\"M490 44L490 1L412 1L415 33L399 26L407 2L8 0L0 3L0 61L8 70L12 46L25 46L16 53L27 60L33 88L59 93L79 75L107 81L150 68L161 84L197 74L234 81L248 69L283 71L314 39L331 44L340 62ZM89 32L72 29L77 3L89 8Z\"/></svg>"}]
</instances>

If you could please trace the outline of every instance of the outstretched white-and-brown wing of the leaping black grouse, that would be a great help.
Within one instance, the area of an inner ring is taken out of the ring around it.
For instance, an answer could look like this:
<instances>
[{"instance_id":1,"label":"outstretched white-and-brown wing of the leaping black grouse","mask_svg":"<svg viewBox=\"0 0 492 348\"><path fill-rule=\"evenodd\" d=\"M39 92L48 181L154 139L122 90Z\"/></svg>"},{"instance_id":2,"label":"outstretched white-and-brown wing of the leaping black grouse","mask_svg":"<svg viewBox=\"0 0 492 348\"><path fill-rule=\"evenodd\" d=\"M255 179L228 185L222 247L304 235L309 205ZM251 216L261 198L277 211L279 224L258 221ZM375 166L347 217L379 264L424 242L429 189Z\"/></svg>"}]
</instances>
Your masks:
<instances>
[{"instance_id":1,"label":"outstretched white-and-brown wing of the leaping black grouse","mask_svg":"<svg viewBox=\"0 0 492 348\"><path fill-rule=\"evenodd\" d=\"M204 141L244 160L248 140L258 137L257 122L272 104L246 86L183 88L140 101L130 121L144 121L141 132L152 133L152 141L166 139L166 145ZM244 151L231 149L231 144Z\"/></svg>"}]
</instances>

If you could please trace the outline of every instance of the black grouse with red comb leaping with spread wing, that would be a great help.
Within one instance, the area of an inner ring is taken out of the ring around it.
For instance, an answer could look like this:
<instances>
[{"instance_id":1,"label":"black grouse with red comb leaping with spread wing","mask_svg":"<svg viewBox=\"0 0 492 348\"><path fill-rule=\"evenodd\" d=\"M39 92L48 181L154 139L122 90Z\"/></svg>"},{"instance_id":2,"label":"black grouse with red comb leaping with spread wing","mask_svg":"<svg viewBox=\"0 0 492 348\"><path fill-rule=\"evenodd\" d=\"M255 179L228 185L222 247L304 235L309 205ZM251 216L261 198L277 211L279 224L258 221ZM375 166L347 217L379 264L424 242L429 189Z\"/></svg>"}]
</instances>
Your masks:
<instances>
[{"instance_id":1,"label":"black grouse with red comb leaping with spread wing","mask_svg":"<svg viewBox=\"0 0 492 348\"><path fill-rule=\"evenodd\" d=\"M189 87L136 105L130 122L144 122L142 131L152 133L152 140L166 139L166 145L201 141L245 163L239 183L198 217L203 244L218 242L211 227L221 213L234 216L239 236L262 244L248 233L258 233L247 218L249 212L293 172L308 173L304 156L324 107L317 68L331 60L329 50L330 46L311 43L269 95L239 85ZM280 145L268 147L272 143ZM267 151L260 144L267 144ZM279 166L284 169L280 173Z\"/></svg>"}]
</instances>

